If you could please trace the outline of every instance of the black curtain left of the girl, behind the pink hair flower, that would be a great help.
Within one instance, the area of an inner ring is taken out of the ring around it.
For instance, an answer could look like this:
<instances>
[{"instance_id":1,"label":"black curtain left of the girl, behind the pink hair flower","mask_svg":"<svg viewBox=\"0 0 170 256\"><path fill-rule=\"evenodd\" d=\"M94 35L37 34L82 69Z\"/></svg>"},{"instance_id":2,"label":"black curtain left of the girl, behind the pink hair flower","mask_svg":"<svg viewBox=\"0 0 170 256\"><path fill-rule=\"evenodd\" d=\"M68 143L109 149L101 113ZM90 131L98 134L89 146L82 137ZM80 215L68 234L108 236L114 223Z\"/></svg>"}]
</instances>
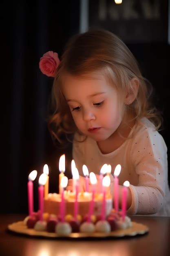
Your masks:
<instances>
[{"instance_id":1,"label":"black curtain left of the girl, behind the pink hair flower","mask_svg":"<svg viewBox=\"0 0 170 256\"><path fill-rule=\"evenodd\" d=\"M66 153L66 172L70 169L71 145L66 149L54 146L47 129L53 79L40 72L39 60L49 50L60 57L68 38L78 33L79 0L4 1L0 6L3 59L0 212L26 213L29 173L36 169L40 176L44 164L48 164L50 190L55 192L62 153ZM35 192L37 187L35 182ZM37 200L35 193L35 209Z\"/></svg>"}]
</instances>

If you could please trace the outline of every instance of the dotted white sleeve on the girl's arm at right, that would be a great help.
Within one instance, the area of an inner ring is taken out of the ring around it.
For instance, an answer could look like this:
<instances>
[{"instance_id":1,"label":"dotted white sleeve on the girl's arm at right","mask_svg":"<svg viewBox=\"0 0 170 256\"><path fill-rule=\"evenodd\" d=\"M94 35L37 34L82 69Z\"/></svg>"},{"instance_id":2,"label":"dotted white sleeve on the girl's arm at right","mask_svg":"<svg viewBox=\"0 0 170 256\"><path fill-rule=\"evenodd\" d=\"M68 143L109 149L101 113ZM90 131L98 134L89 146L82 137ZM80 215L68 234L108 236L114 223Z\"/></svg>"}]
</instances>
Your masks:
<instances>
[{"instance_id":1,"label":"dotted white sleeve on the girl's arm at right","mask_svg":"<svg viewBox=\"0 0 170 256\"><path fill-rule=\"evenodd\" d=\"M139 180L130 185L132 205L130 214L154 214L164 204L168 182L167 148L163 137L153 128L144 128L133 139L132 162Z\"/></svg>"}]
</instances>

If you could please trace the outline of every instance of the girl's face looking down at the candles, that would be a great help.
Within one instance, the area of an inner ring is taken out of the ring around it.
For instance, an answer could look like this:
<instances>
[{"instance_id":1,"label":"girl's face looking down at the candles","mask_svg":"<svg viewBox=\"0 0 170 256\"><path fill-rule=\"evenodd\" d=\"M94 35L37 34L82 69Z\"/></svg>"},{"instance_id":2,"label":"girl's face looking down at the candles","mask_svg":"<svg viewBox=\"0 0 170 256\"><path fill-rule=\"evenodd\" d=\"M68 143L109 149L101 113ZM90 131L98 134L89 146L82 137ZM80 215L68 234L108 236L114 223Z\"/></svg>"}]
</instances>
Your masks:
<instances>
[{"instance_id":1,"label":"girl's face looking down at the candles","mask_svg":"<svg viewBox=\"0 0 170 256\"><path fill-rule=\"evenodd\" d=\"M120 126L123 103L100 72L91 78L66 75L62 91L75 125L84 135L103 141Z\"/></svg>"}]
</instances>

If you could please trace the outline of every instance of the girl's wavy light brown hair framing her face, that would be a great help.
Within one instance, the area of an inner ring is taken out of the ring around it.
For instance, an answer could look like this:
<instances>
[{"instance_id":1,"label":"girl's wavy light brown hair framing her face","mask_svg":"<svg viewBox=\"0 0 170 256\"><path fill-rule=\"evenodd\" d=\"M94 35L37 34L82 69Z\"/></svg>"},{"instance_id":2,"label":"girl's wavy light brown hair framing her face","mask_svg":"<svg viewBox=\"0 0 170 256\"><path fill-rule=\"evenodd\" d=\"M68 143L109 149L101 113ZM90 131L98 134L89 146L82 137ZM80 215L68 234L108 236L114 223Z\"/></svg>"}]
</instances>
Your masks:
<instances>
[{"instance_id":1,"label":"girl's wavy light brown hair framing her face","mask_svg":"<svg viewBox=\"0 0 170 256\"><path fill-rule=\"evenodd\" d=\"M137 97L127 107L136 121L147 117L155 124L155 129L159 129L161 115L150 100L152 85L142 76L135 57L117 36L106 30L95 30L75 35L66 44L51 94L53 112L49 115L49 130L53 138L61 143L64 134L77 131L61 90L64 74L81 77L98 70L120 94L124 91L133 93L131 81L138 79Z\"/></svg>"}]
</instances>

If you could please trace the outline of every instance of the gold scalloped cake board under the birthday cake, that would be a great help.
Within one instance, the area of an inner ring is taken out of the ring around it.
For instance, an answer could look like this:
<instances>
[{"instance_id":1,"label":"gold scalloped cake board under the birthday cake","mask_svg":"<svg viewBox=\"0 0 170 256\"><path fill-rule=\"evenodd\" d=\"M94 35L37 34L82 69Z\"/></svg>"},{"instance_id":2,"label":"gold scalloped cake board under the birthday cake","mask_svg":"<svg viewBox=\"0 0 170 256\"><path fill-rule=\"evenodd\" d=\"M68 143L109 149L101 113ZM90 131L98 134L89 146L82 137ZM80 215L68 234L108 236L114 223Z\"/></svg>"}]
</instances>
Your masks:
<instances>
[{"instance_id":1,"label":"gold scalloped cake board under the birthday cake","mask_svg":"<svg viewBox=\"0 0 170 256\"><path fill-rule=\"evenodd\" d=\"M136 236L146 234L149 229L146 225L141 223L132 222L132 227L128 229L119 229L111 231L109 233L93 232L93 233L71 233L67 236L57 235L55 233L49 233L46 231L36 231L35 229L28 229L23 221L14 222L8 225L8 229L17 234L24 234L27 236L43 237L43 238L109 238L109 237L124 237L124 236Z\"/></svg>"}]
</instances>

